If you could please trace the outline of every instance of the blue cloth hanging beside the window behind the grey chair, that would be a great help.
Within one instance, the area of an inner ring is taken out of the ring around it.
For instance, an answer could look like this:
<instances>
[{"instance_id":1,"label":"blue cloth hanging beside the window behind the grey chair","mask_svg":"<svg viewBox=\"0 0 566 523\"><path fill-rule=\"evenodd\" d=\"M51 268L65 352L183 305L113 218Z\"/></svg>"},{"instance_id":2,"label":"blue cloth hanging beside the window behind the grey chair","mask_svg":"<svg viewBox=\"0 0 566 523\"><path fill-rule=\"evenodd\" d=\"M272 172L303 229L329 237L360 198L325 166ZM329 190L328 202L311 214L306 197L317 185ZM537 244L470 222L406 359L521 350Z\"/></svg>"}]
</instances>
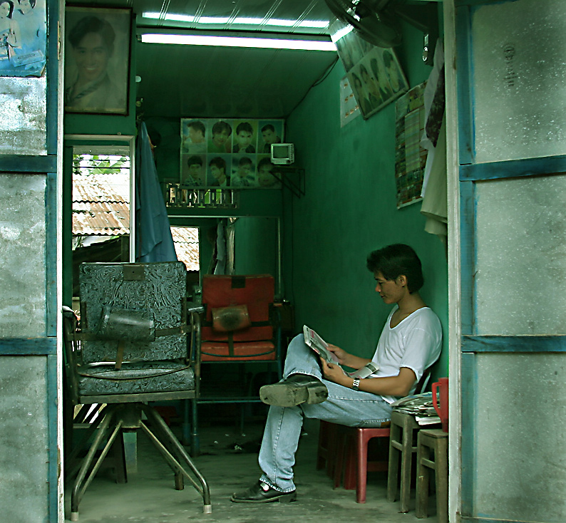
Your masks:
<instances>
[{"instance_id":1,"label":"blue cloth hanging beside the window behind the grey chair","mask_svg":"<svg viewBox=\"0 0 566 523\"><path fill-rule=\"evenodd\" d=\"M136 261L177 261L145 123L140 125L135 148L135 223Z\"/></svg>"}]
</instances>

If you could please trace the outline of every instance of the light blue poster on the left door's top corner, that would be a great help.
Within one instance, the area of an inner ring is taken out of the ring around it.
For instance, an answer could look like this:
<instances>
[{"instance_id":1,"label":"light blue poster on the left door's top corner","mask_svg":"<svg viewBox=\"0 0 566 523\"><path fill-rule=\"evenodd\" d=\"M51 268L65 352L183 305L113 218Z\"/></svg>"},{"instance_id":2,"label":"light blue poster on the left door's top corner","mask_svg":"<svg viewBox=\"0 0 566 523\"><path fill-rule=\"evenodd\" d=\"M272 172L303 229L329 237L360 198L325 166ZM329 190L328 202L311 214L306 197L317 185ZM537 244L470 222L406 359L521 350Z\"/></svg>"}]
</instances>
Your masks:
<instances>
[{"instance_id":1,"label":"light blue poster on the left door's top corner","mask_svg":"<svg viewBox=\"0 0 566 523\"><path fill-rule=\"evenodd\" d=\"M0 0L0 76L41 76L46 35L45 0Z\"/></svg>"}]
</instances>

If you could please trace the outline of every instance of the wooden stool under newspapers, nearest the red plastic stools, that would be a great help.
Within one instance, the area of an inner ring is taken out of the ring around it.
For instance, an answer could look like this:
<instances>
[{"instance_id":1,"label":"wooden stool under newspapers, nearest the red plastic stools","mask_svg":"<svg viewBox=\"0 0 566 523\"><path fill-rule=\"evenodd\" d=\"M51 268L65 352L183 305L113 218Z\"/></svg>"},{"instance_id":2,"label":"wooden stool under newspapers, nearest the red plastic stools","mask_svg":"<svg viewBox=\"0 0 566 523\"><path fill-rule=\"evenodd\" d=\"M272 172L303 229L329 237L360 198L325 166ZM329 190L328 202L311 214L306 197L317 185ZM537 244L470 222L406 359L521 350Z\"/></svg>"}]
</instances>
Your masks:
<instances>
[{"instance_id":1,"label":"wooden stool under newspapers, nearest the red plastic stools","mask_svg":"<svg viewBox=\"0 0 566 523\"><path fill-rule=\"evenodd\" d=\"M401 510L408 512L411 498L411 468L416 452L415 431L421 428L411 414L391 413L391 435L389 437L389 468L387 473L387 500L398 499L399 455L401 455Z\"/></svg>"}]
</instances>

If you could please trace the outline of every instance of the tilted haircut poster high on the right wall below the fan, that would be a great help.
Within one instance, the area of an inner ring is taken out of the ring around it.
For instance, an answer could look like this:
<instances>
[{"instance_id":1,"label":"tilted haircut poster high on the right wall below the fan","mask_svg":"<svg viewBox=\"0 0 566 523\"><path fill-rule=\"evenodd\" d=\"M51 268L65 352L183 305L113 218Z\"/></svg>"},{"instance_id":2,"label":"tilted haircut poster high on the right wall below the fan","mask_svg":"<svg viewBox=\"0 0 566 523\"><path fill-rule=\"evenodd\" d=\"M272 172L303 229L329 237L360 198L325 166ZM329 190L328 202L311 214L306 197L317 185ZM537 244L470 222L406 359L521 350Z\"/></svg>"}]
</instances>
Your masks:
<instances>
[{"instance_id":1,"label":"tilted haircut poster high on the right wall below the fan","mask_svg":"<svg viewBox=\"0 0 566 523\"><path fill-rule=\"evenodd\" d=\"M334 43L364 118L406 93L408 83L393 49L373 46L354 31Z\"/></svg>"}]
</instances>

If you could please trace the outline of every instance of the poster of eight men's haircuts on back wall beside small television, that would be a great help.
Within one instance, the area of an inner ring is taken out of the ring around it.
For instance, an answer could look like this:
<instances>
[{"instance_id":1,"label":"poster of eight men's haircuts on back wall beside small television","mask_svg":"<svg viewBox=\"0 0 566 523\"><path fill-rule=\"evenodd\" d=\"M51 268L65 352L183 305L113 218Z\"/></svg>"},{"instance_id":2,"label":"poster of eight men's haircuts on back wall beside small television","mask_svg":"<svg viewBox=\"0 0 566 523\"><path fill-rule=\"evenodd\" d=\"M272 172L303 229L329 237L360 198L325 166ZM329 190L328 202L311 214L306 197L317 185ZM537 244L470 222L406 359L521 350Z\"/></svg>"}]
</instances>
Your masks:
<instances>
[{"instance_id":1,"label":"poster of eight men's haircuts on back wall beside small television","mask_svg":"<svg viewBox=\"0 0 566 523\"><path fill-rule=\"evenodd\" d=\"M272 143L284 140L284 120L181 118L182 189L279 189Z\"/></svg>"}]
</instances>

